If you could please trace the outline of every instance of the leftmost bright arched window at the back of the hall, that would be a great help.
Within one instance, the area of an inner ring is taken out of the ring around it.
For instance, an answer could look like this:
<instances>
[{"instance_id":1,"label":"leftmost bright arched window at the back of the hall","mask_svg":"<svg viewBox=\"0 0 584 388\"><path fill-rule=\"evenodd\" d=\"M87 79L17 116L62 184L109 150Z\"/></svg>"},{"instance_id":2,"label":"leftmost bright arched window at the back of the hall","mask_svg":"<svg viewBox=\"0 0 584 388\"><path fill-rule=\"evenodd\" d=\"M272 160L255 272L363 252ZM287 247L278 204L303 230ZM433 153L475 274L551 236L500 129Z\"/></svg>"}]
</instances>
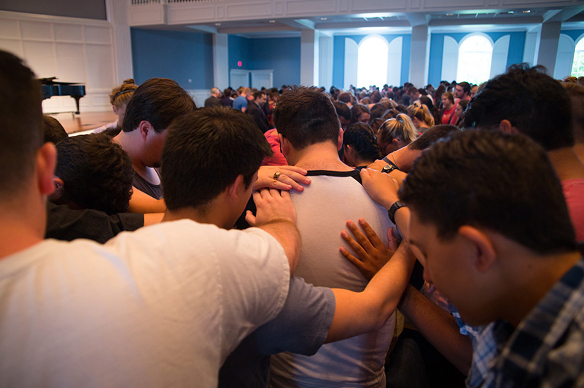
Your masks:
<instances>
[{"instance_id":1,"label":"leftmost bright arched window at the back of the hall","mask_svg":"<svg viewBox=\"0 0 584 388\"><path fill-rule=\"evenodd\" d=\"M372 35L361 41L357 60L357 85L369 88L387 83L387 41Z\"/></svg>"}]
</instances>

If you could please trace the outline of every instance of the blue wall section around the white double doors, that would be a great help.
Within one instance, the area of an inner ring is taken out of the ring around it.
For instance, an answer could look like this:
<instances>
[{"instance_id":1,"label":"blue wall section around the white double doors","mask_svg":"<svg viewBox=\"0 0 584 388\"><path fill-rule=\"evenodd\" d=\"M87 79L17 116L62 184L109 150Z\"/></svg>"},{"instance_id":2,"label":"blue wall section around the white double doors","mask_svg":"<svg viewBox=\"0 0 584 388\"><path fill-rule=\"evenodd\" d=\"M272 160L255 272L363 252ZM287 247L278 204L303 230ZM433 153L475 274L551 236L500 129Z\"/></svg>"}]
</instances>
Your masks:
<instances>
[{"instance_id":1,"label":"blue wall section around the white double doors","mask_svg":"<svg viewBox=\"0 0 584 388\"><path fill-rule=\"evenodd\" d=\"M300 84L300 38L228 37L229 69L273 69L273 85ZM241 61L241 67L237 62ZM231 85L237 88L240 85Z\"/></svg>"}]
</instances>

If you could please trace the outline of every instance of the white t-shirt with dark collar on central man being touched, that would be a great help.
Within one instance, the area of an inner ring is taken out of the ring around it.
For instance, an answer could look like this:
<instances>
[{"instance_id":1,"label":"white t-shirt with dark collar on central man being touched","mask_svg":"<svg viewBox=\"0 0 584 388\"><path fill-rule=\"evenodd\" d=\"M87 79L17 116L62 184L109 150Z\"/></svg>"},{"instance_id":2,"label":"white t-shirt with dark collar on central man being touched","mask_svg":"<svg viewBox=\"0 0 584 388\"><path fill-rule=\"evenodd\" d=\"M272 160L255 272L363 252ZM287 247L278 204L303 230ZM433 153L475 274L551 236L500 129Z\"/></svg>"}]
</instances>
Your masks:
<instances>
[{"instance_id":1,"label":"white t-shirt with dark collar on central man being touched","mask_svg":"<svg viewBox=\"0 0 584 388\"><path fill-rule=\"evenodd\" d=\"M312 172L309 172L312 174ZM333 176L335 174L337 176ZM359 270L340 252L345 223L362 217L387 246L387 229L394 225L387 210L373 202L358 181L358 172L321 172L302 194L291 192L302 252L295 275L316 286L361 292L367 286ZM341 175L341 176L338 176ZM385 356L395 317L379 329L320 347L314 356L289 352L273 356L273 387L385 387Z\"/></svg>"}]
</instances>

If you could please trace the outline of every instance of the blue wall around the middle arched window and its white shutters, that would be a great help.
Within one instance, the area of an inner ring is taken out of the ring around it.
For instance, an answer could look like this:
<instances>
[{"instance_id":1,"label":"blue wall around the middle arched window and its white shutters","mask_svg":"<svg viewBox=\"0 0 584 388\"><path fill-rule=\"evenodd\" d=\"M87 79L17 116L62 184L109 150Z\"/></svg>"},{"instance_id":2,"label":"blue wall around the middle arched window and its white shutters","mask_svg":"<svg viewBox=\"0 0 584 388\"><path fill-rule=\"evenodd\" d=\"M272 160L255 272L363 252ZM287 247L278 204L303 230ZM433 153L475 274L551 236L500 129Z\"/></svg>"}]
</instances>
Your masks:
<instances>
[{"instance_id":1,"label":"blue wall around the middle arched window and its white shutters","mask_svg":"<svg viewBox=\"0 0 584 388\"><path fill-rule=\"evenodd\" d=\"M444 37L451 37L458 43L469 33L460 34L431 34L430 37L430 61L428 68L428 83L437 85L442 81L442 52L444 50ZM486 32L493 41L509 35L509 53L507 55L507 67L514 63L523 62L523 48L525 48L525 32ZM453 81L451 79L446 81ZM463 80L459 80L463 81Z\"/></svg>"}]
</instances>

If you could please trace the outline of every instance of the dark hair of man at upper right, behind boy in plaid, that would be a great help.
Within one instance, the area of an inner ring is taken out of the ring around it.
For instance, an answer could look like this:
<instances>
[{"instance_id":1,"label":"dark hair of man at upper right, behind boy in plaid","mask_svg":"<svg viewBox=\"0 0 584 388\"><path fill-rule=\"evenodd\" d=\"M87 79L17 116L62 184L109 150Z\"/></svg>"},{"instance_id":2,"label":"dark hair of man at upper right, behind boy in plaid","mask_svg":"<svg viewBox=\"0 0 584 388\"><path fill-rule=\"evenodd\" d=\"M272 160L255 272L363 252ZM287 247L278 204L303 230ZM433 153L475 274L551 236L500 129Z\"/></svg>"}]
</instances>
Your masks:
<instances>
[{"instance_id":1,"label":"dark hair of man at upper right, behind boy in plaid","mask_svg":"<svg viewBox=\"0 0 584 388\"><path fill-rule=\"evenodd\" d=\"M574 145L570 97L543 66L512 65L485 83L465 111L465 128L494 128L508 120L546 150Z\"/></svg>"}]
</instances>

